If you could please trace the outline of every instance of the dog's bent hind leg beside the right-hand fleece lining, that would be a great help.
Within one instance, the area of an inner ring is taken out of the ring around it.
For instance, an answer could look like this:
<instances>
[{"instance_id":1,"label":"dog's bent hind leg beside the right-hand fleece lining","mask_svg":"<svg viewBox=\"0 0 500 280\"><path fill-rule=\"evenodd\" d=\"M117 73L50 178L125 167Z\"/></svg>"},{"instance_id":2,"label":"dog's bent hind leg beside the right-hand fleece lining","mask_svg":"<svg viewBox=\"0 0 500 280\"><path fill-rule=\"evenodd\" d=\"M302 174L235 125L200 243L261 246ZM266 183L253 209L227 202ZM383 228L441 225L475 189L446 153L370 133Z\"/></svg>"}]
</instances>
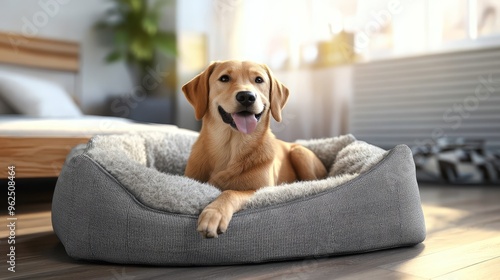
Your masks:
<instances>
[{"instance_id":1,"label":"dog's bent hind leg beside the right-hand fleece lining","mask_svg":"<svg viewBox=\"0 0 500 280\"><path fill-rule=\"evenodd\" d=\"M292 145L290 161L301 181L322 179L327 175L326 168L319 158L311 150L301 145Z\"/></svg>"}]
</instances>

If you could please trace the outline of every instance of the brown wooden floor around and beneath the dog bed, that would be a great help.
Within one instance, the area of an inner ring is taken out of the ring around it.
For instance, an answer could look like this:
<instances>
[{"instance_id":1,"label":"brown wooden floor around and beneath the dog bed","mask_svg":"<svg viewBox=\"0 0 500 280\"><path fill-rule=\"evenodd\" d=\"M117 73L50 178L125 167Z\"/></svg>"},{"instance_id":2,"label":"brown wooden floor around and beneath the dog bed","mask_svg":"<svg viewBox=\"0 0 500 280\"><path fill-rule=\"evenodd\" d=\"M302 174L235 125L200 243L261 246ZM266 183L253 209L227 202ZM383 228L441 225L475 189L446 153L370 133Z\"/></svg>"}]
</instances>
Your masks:
<instances>
[{"instance_id":1,"label":"brown wooden floor around and beneath the dog bed","mask_svg":"<svg viewBox=\"0 0 500 280\"><path fill-rule=\"evenodd\" d=\"M52 232L49 203L19 205L16 272L2 226L0 279L500 279L500 186L421 186L421 197L428 236L415 247L218 267L78 262Z\"/></svg>"}]
</instances>

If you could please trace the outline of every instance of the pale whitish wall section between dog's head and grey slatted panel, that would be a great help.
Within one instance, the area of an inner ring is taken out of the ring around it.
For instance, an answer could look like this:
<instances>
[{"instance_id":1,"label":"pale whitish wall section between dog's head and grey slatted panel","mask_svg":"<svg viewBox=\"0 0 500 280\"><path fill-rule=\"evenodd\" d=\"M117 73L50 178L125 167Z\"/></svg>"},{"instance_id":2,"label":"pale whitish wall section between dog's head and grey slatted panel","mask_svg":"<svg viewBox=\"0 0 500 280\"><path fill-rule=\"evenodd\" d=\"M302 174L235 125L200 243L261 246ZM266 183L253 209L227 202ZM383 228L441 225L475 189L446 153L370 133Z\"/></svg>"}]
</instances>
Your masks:
<instances>
[{"instance_id":1,"label":"pale whitish wall section between dog's head and grey slatted panel","mask_svg":"<svg viewBox=\"0 0 500 280\"><path fill-rule=\"evenodd\" d=\"M352 66L277 71L290 90L282 122L272 123L282 140L326 138L347 133Z\"/></svg>"}]
</instances>

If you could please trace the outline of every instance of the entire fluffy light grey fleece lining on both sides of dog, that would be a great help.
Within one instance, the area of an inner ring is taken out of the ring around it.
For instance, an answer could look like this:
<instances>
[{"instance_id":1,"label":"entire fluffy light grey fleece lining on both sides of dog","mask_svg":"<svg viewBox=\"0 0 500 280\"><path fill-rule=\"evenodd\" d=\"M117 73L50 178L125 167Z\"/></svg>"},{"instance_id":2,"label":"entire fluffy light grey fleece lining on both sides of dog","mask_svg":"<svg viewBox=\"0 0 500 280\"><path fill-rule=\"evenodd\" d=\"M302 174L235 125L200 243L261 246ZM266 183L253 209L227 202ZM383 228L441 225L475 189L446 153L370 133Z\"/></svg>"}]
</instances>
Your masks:
<instances>
[{"instance_id":1,"label":"entire fluffy light grey fleece lining on both sides of dog","mask_svg":"<svg viewBox=\"0 0 500 280\"><path fill-rule=\"evenodd\" d=\"M183 176L197 136L197 133L182 129L172 129L168 133L96 136L85 154L145 205L162 211L199 214L220 191ZM369 169L386 153L356 141L352 135L300 143L323 161L330 170L329 178L262 188L245 208L283 203L334 188Z\"/></svg>"}]
</instances>

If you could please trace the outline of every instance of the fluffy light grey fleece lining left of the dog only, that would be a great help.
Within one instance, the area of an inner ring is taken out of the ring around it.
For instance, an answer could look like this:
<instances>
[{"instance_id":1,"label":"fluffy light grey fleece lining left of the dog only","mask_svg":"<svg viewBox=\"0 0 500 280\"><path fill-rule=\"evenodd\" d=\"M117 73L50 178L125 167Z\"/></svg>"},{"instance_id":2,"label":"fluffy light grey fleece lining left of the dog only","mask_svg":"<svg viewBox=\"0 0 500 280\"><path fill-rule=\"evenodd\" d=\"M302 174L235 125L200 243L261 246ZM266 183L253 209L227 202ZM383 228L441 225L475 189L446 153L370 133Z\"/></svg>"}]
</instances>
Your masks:
<instances>
[{"instance_id":1,"label":"fluffy light grey fleece lining left of the dog only","mask_svg":"<svg viewBox=\"0 0 500 280\"><path fill-rule=\"evenodd\" d=\"M93 137L85 155L145 205L168 212L198 214L220 191L185 176L197 133L134 133Z\"/></svg>"}]
</instances>

